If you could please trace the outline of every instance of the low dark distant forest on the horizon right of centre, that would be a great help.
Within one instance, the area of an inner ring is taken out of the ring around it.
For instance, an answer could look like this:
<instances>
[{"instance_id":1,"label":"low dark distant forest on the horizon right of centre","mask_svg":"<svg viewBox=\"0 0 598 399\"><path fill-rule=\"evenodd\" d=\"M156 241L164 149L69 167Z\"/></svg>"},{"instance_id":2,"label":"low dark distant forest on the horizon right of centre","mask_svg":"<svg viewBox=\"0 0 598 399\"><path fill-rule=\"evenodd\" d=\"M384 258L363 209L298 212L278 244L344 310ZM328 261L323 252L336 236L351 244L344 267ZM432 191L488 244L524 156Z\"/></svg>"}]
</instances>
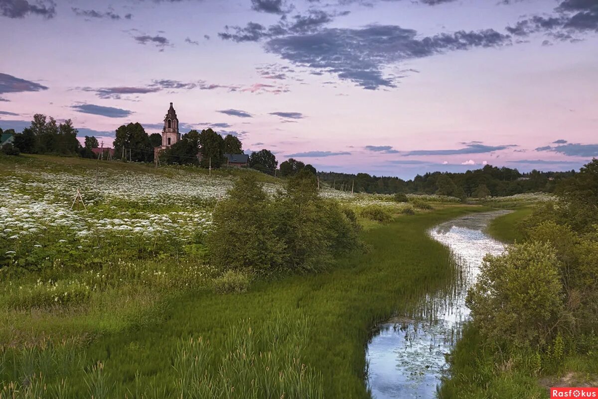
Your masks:
<instances>
[{"instance_id":1,"label":"low dark distant forest on the horizon right of centre","mask_svg":"<svg viewBox=\"0 0 598 399\"><path fill-rule=\"evenodd\" d=\"M393 194L404 192L411 194L451 195L457 198L504 196L526 192L554 192L556 183L575 175L575 171L542 172L532 170L520 173L517 169L485 165L481 169L468 170L465 173L426 173L417 175L413 180L398 177L370 176L367 173L347 174L319 172L320 182L344 191Z\"/></svg>"}]
</instances>

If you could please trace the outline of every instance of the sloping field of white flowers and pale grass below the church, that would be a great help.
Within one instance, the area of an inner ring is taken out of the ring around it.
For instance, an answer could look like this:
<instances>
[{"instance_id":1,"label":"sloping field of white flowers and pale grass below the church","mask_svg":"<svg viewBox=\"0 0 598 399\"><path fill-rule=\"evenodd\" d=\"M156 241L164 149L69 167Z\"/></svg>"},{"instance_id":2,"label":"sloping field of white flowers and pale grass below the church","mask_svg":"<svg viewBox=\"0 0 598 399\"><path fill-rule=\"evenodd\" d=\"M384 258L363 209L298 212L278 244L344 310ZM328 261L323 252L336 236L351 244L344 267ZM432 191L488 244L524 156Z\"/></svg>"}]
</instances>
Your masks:
<instances>
[{"instance_id":1,"label":"sloping field of white flowers and pale grass below the church","mask_svg":"<svg viewBox=\"0 0 598 399\"><path fill-rule=\"evenodd\" d=\"M30 309L48 316L56 314L51 309L78 306L102 318L133 303L139 308L129 314L139 314L163 294L209 287L218 277L205 262L203 245L212 211L235 179L257 173L207 176L194 168L119 162L100 162L96 169L93 161L54 157L0 161L0 324L7 325L26 324ZM264 180L271 195L283 189L280 181ZM74 204L77 192L83 201ZM392 195L330 188L321 195L370 220L413 210ZM97 308L103 311L91 311ZM10 332L0 327L2 334Z\"/></svg>"}]
</instances>

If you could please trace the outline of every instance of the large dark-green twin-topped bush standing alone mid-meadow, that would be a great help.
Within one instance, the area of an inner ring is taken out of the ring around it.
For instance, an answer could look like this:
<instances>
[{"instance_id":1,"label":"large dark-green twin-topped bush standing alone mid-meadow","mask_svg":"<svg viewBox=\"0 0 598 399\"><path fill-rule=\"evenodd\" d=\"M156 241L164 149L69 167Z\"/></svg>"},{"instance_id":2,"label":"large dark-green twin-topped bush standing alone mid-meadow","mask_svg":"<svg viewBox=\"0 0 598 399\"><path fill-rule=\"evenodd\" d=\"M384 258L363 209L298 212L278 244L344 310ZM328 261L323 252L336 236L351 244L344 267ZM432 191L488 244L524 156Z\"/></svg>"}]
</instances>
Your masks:
<instances>
[{"instance_id":1,"label":"large dark-green twin-topped bush standing alone mid-meadow","mask_svg":"<svg viewBox=\"0 0 598 399\"><path fill-rule=\"evenodd\" d=\"M319 197L317 187L308 170L291 177L274 198L255 176L237 180L213 213L206 240L212 265L257 275L318 271L335 255L359 248L355 214Z\"/></svg>"}]
</instances>

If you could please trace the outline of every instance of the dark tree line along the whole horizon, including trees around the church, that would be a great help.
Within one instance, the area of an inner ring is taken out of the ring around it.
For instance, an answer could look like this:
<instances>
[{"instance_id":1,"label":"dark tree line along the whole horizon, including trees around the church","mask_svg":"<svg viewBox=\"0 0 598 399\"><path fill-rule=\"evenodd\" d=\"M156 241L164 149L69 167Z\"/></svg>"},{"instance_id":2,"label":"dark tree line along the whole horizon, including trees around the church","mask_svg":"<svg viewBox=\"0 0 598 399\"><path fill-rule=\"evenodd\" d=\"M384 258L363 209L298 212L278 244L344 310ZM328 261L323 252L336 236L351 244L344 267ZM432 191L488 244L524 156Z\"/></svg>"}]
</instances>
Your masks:
<instances>
[{"instance_id":1,"label":"dark tree line along the whole horizon, including trees around the church","mask_svg":"<svg viewBox=\"0 0 598 399\"><path fill-rule=\"evenodd\" d=\"M23 152L94 158L96 155L93 149L100 146L93 136L85 136L82 146L77 140L78 131L73 127L71 119L57 123L54 118L47 118L39 113L33 116L30 127L25 128L22 133L16 133L12 129L4 133L14 134L13 145L2 149L2 152L10 155ZM121 125L115 132L114 159L154 162L154 148L161 144L160 133L148 134L138 122ZM243 154L241 140L231 134L222 137L210 128L202 131L191 130L183 134L181 140L160 153L160 162L219 168L226 164L224 154ZM517 169L485 165L481 169L468 170L465 173L434 172L418 174L413 180L403 180L398 177L371 176L367 173L318 172L312 165L293 158L280 163L279 166L276 156L268 149L252 152L249 155L249 167L280 177L291 177L305 169L313 174L317 173L320 182L327 183L332 188L352 189L354 192L439 194L457 198L554 192L560 180L575 175L575 171L533 170L520 173Z\"/></svg>"}]
</instances>

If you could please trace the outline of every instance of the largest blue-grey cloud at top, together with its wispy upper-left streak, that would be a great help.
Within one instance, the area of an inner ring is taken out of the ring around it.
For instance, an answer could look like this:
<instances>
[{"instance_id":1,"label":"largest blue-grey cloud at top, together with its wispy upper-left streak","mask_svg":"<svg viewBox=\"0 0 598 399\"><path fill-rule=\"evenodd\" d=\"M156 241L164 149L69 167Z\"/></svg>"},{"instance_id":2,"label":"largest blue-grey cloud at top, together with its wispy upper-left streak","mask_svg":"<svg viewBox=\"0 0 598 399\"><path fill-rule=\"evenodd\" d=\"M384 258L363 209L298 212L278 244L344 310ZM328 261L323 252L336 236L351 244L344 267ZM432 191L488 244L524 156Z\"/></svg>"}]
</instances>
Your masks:
<instances>
[{"instance_id":1,"label":"largest blue-grey cloud at top, together with its wispy upper-left streak","mask_svg":"<svg viewBox=\"0 0 598 399\"><path fill-rule=\"evenodd\" d=\"M269 27L250 22L245 27L227 26L218 33L236 42L263 41L269 53L298 65L329 72L367 88L396 87L399 76L383 69L408 59L475 47L510 44L510 36L493 29L459 31L419 38L417 31L395 25L370 25L362 29L325 28L336 14L311 11Z\"/></svg>"}]
</instances>

